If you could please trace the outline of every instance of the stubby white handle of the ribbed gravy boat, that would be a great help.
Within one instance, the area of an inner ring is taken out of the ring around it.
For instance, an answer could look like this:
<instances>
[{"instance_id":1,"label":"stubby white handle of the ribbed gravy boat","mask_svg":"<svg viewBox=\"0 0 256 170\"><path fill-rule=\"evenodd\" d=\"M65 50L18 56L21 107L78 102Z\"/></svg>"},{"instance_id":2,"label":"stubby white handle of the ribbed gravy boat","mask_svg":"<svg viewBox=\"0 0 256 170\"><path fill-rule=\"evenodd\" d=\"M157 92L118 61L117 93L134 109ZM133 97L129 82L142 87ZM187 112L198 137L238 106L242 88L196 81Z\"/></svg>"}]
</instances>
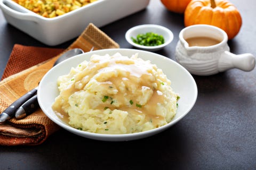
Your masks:
<instances>
[{"instance_id":1,"label":"stubby white handle of the ribbed gravy boat","mask_svg":"<svg viewBox=\"0 0 256 170\"><path fill-rule=\"evenodd\" d=\"M243 71L252 71L254 67L255 57L250 53L236 55L225 51L219 58L218 63L219 72L223 72L233 68Z\"/></svg>"}]
</instances>

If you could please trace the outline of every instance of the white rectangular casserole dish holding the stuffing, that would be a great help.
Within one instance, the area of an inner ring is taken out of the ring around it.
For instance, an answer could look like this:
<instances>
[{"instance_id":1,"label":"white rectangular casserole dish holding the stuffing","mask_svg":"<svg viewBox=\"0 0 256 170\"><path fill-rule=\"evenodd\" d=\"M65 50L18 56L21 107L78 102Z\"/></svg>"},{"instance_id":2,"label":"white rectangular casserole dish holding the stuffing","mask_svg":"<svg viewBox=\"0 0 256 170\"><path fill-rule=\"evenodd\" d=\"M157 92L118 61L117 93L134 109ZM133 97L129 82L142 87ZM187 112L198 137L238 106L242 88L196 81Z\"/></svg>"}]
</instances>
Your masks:
<instances>
[{"instance_id":1,"label":"white rectangular casserole dish holding the stuffing","mask_svg":"<svg viewBox=\"0 0 256 170\"><path fill-rule=\"evenodd\" d=\"M0 0L8 23L50 46L78 37L89 23L102 27L147 7L150 0L98 0L77 10L45 18L11 1Z\"/></svg>"}]
</instances>

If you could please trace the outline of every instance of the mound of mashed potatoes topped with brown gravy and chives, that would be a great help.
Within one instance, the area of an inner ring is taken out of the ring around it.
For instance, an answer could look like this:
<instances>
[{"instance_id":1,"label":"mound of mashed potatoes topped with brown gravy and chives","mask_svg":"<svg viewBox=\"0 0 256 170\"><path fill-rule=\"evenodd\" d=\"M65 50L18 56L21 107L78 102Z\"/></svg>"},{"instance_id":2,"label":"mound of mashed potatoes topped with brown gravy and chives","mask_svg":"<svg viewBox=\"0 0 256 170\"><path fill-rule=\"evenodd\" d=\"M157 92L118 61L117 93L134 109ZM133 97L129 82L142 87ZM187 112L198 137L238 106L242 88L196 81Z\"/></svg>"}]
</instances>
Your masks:
<instances>
[{"instance_id":1,"label":"mound of mashed potatoes topped with brown gravy and chives","mask_svg":"<svg viewBox=\"0 0 256 170\"><path fill-rule=\"evenodd\" d=\"M58 78L60 95L52 106L74 128L94 133L147 131L169 123L178 95L150 61L92 55Z\"/></svg>"}]
</instances>

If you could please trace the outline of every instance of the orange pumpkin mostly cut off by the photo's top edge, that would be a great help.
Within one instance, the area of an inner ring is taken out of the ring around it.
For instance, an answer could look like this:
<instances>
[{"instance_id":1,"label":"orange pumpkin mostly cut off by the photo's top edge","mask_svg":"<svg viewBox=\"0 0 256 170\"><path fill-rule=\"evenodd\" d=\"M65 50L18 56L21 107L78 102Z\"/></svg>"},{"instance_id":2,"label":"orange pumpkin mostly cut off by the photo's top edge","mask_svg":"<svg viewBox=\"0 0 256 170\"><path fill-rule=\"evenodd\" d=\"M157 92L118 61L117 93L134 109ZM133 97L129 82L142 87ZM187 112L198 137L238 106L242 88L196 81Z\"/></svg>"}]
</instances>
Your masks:
<instances>
[{"instance_id":1,"label":"orange pumpkin mostly cut off by the photo's top edge","mask_svg":"<svg viewBox=\"0 0 256 170\"><path fill-rule=\"evenodd\" d=\"M161 0L162 4L170 11L184 13L191 0Z\"/></svg>"}]
</instances>

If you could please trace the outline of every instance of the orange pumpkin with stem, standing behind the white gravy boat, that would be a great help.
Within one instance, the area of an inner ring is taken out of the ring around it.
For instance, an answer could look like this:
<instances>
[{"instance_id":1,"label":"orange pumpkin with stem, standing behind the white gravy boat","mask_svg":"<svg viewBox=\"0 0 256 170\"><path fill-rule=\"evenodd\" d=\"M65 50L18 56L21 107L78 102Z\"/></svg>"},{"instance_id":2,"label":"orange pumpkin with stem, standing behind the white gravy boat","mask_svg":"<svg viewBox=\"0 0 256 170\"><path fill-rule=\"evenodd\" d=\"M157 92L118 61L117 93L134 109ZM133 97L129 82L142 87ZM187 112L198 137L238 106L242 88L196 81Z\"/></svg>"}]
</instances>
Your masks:
<instances>
[{"instance_id":1,"label":"orange pumpkin with stem, standing behind the white gravy boat","mask_svg":"<svg viewBox=\"0 0 256 170\"><path fill-rule=\"evenodd\" d=\"M224 30L228 39L234 38L242 26L237 8L227 0L192 0L184 13L185 27L209 24Z\"/></svg>"}]
</instances>

